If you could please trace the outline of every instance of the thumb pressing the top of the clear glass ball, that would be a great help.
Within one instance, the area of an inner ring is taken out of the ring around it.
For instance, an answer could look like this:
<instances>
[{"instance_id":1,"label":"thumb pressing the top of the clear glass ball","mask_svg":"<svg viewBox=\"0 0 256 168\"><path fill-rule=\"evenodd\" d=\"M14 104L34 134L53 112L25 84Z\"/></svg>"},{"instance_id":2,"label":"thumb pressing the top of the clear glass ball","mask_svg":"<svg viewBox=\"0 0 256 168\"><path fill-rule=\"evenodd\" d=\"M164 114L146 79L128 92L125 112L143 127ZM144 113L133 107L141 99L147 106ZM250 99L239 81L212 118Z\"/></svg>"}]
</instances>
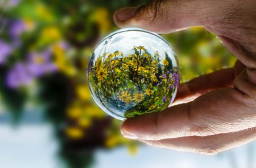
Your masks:
<instances>
[{"instance_id":1,"label":"thumb pressing the top of the clear glass ball","mask_svg":"<svg viewBox=\"0 0 256 168\"><path fill-rule=\"evenodd\" d=\"M227 2L218 0L154 0L140 7L120 9L113 18L120 28L140 27L164 34L189 26L210 26L209 23L223 17L221 11L227 11L227 6Z\"/></svg>"}]
</instances>

